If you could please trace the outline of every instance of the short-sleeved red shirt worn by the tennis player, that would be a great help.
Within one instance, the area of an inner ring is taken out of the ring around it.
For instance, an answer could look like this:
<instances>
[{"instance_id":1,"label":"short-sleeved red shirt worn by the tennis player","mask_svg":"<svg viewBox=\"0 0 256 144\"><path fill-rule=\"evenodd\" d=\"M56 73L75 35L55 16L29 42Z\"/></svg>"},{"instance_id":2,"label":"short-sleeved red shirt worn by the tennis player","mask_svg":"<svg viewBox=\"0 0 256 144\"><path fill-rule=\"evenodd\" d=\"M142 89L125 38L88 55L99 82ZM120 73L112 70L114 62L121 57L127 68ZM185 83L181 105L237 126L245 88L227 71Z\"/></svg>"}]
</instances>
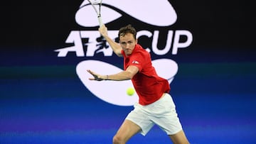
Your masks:
<instances>
[{"instance_id":1,"label":"short-sleeved red shirt worn by the tennis player","mask_svg":"<svg viewBox=\"0 0 256 144\"><path fill-rule=\"evenodd\" d=\"M156 70L151 64L151 56L149 52L144 50L141 45L135 45L131 55L126 56L122 50L124 57L124 70L129 65L139 68L139 72L132 77L132 84L139 96L139 104L147 105L154 103L161 98L166 92L170 91L168 81L156 74Z\"/></svg>"}]
</instances>

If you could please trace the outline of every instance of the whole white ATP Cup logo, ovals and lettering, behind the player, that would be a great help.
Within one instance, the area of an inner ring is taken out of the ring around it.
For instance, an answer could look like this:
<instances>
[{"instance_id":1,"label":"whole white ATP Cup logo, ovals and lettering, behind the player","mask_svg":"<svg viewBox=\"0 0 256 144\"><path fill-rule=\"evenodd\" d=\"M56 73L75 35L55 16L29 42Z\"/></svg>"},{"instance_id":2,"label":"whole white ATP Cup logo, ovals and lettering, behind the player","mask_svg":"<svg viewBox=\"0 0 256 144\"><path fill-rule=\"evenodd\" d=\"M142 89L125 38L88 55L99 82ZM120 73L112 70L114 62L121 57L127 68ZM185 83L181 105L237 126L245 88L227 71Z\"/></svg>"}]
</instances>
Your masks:
<instances>
[{"instance_id":1,"label":"whole white ATP Cup logo, ovals and lettering, behind the player","mask_svg":"<svg viewBox=\"0 0 256 144\"><path fill-rule=\"evenodd\" d=\"M105 24L122 18L122 16L125 15L136 18L140 23L147 23L151 26L155 26L156 29L154 32L146 30L137 31L137 38L143 36L151 39L151 46L146 48L146 50L156 55L167 55L168 52L171 52L172 55L177 55L179 48L188 48L193 40L193 36L189 31L166 30L168 31L166 46L164 48L158 48L159 31L157 28L171 26L177 19L176 11L174 11L174 8L168 0L158 1L158 3L148 0L103 0L101 13L102 21ZM68 52L75 52L77 57L95 57L95 55L100 52L102 52L105 57L111 57L113 55L110 45L106 43L106 40L104 40L97 31L99 23L97 21L96 13L89 2L82 2L80 9L75 14L75 21L80 26L86 28L96 27L96 30L71 31L68 38L65 40L65 43L72 43L73 46L55 50L55 52L58 52L58 57L66 57ZM117 33L118 30L108 31L108 35L110 35L110 38L113 38L113 40L117 38ZM185 42L181 42L181 36L186 37ZM87 42L83 42L82 39L86 39ZM86 52L84 50L86 50ZM168 79L169 84L171 84L171 81L178 71L176 62L166 56L166 58L152 60L152 65L155 67L159 76ZM118 106L132 106L135 101L138 101L136 93L132 96L127 94L127 89L133 87L131 80L121 82L90 81L88 78L91 77L91 75L86 72L86 70L100 72L101 74L114 74L122 71L119 67L100 60L84 60L78 63L76 72L85 87L103 101Z\"/></svg>"}]
</instances>

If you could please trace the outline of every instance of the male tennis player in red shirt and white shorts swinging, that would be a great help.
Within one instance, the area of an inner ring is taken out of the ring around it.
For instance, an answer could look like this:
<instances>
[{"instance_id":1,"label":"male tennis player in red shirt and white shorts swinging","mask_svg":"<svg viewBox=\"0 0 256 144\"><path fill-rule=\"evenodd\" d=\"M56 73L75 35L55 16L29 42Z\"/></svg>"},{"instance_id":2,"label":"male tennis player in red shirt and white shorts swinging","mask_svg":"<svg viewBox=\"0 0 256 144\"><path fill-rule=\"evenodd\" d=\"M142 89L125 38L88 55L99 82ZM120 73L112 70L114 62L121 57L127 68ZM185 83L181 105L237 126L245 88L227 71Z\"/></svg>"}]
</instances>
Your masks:
<instances>
[{"instance_id":1,"label":"male tennis player in red shirt and white shorts swinging","mask_svg":"<svg viewBox=\"0 0 256 144\"><path fill-rule=\"evenodd\" d=\"M124 57L124 71L101 75L87 70L93 76L89 79L98 81L132 79L132 84L139 96L139 102L134 104L134 110L128 114L114 135L113 143L126 143L136 133L146 135L154 124L165 131L173 143L188 143L178 119L174 101L169 95L169 83L156 74L151 65L149 52L137 44L137 31L131 25L120 28L119 43L115 43L108 36L104 25L99 28L99 31L114 53Z\"/></svg>"}]
</instances>

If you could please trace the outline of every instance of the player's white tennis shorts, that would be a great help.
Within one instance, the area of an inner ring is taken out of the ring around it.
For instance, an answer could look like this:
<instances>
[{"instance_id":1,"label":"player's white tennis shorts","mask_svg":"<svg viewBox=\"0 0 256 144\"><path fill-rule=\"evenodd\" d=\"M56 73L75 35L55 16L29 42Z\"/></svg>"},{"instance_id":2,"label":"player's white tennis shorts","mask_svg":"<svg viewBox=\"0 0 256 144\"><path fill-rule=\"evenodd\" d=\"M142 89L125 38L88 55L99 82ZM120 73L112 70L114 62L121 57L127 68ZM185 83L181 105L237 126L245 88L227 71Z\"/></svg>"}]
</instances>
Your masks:
<instances>
[{"instance_id":1,"label":"player's white tennis shorts","mask_svg":"<svg viewBox=\"0 0 256 144\"><path fill-rule=\"evenodd\" d=\"M182 130L174 101L167 93L152 104L146 106L134 104L134 110L125 119L142 128L142 135L146 135L154 124L165 131L167 135L173 135Z\"/></svg>"}]
</instances>

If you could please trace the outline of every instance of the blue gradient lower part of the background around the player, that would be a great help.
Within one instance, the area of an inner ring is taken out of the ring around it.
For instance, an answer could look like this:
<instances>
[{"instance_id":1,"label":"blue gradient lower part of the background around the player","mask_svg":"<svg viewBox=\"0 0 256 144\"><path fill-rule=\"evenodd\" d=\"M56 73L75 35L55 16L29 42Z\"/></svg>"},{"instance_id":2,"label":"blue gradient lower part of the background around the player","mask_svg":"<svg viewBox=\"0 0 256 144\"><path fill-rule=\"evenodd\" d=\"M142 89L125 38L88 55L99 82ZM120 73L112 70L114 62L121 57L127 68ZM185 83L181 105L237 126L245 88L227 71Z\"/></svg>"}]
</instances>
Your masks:
<instances>
[{"instance_id":1,"label":"blue gradient lower part of the background around the player","mask_svg":"<svg viewBox=\"0 0 256 144\"><path fill-rule=\"evenodd\" d=\"M170 94L190 143L256 143L255 74L255 63L179 65ZM133 109L98 99L73 66L2 67L0 87L1 144L112 143ZM154 126L128 143L171 140Z\"/></svg>"}]
</instances>

